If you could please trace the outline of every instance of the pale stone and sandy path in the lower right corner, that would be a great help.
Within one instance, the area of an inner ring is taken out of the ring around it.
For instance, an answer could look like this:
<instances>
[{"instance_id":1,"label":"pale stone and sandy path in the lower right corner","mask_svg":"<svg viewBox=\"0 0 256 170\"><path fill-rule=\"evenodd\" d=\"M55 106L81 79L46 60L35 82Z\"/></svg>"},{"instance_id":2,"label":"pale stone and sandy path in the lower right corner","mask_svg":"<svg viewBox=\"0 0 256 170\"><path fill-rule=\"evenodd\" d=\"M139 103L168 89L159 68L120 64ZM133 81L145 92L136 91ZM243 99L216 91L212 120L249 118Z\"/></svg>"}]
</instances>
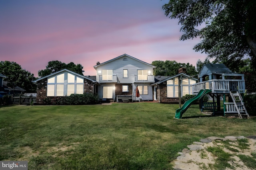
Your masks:
<instances>
[{"instance_id":1,"label":"pale stone and sandy path in the lower right corner","mask_svg":"<svg viewBox=\"0 0 256 170\"><path fill-rule=\"evenodd\" d=\"M182 152L179 152L180 156L174 161L174 170L210 170L213 169L213 164L215 163L216 157L214 157L210 152L206 149L208 147L222 147L225 152L233 154L231 158L234 158L233 161L228 163L235 166L235 170L251 170L236 156L237 154L244 154L251 156L252 152L256 152L256 136L249 136L248 144L250 145L250 149L241 150L236 146L235 141L237 139L243 139L244 136L226 136L224 138L220 137L208 137L206 139L201 139L200 142L194 142L192 145L188 145L189 149L183 149ZM239 150L239 152L232 152L222 145L220 142L216 142L218 140L226 141L234 141L234 143L230 143L234 149ZM215 142L214 142L215 141ZM222 145L222 146L220 146ZM230 170L226 168L226 170Z\"/></svg>"}]
</instances>

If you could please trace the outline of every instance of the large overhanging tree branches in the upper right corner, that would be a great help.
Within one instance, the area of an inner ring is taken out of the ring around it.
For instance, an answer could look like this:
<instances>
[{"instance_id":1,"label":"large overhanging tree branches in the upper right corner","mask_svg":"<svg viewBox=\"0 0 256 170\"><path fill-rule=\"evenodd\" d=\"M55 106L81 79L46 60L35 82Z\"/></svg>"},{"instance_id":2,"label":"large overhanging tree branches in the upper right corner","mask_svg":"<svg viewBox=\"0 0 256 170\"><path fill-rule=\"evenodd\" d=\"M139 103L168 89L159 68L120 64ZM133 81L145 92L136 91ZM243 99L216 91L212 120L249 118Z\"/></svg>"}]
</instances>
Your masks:
<instances>
[{"instance_id":1,"label":"large overhanging tree branches in the upper right corner","mask_svg":"<svg viewBox=\"0 0 256 170\"><path fill-rule=\"evenodd\" d=\"M196 51L229 68L248 57L255 69L255 7L255 0L170 0L163 9L182 25L180 40L200 37Z\"/></svg>"}]
</instances>

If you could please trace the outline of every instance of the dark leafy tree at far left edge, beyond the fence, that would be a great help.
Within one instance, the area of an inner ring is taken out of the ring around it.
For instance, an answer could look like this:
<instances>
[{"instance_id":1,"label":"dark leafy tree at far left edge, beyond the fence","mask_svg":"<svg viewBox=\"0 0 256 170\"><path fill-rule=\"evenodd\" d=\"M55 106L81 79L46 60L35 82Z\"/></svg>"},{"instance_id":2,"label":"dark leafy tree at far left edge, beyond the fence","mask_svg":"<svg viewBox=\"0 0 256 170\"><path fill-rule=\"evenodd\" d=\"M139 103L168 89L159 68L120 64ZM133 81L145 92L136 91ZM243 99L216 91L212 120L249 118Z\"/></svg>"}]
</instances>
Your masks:
<instances>
[{"instance_id":1,"label":"dark leafy tree at far left edge, beyond the fence","mask_svg":"<svg viewBox=\"0 0 256 170\"><path fill-rule=\"evenodd\" d=\"M32 83L33 80L36 80L34 74L22 69L19 64L13 61L1 61L0 70L0 73L8 77L4 78L4 81L8 82L7 86L19 86L26 92L36 92L36 85Z\"/></svg>"}]
</instances>

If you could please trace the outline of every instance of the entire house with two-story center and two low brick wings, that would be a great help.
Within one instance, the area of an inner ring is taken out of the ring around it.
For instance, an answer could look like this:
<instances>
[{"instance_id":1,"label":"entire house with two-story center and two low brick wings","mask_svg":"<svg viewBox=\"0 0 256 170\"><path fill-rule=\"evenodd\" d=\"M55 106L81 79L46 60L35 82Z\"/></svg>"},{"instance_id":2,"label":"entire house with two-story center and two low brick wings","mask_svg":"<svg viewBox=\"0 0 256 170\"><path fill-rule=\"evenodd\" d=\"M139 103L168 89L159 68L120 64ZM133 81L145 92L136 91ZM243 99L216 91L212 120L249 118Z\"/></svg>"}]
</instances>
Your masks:
<instances>
[{"instance_id":1,"label":"entire house with two-story center and two low brick wings","mask_svg":"<svg viewBox=\"0 0 256 170\"><path fill-rule=\"evenodd\" d=\"M154 76L155 66L130 55L120 55L94 66L96 76L83 76L64 69L33 81L37 84L38 104L46 97L57 98L70 94L94 93L102 101L132 102L159 101L178 102L178 78L181 80L182 96L192 94L196 78L181 68L175 76ZM185 79L184 79L185 78ZM139 97L136 97L138 88Z\"/></svg>"}]
</instances>

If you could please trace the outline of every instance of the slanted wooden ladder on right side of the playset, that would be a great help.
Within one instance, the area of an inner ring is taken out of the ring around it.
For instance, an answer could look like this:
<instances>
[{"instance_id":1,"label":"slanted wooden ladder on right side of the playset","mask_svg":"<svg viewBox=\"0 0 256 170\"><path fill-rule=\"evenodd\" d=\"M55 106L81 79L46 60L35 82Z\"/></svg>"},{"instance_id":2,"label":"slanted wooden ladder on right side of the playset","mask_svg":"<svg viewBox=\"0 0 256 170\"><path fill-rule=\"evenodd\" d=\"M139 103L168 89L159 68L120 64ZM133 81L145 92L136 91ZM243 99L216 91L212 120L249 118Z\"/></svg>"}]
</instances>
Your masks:
<instances>
[{"instance_id":1,"label":"slanted wooden ladder on right side of the playset","mask_svg":"<svg viewBox=\"0 0 256 170\"><path fill-rule=\"evenodd\" d=\"M247 110L244 106L244 102L242 100L241 94L238 92L236 92L236 93L229 92L229 93L234 102L234 105L236 107L236 111L238 113L239 118L242 119L243 116L246 116L248 119L250 119L250 116L247 113Z\"/></svg>"}]
</instances>

